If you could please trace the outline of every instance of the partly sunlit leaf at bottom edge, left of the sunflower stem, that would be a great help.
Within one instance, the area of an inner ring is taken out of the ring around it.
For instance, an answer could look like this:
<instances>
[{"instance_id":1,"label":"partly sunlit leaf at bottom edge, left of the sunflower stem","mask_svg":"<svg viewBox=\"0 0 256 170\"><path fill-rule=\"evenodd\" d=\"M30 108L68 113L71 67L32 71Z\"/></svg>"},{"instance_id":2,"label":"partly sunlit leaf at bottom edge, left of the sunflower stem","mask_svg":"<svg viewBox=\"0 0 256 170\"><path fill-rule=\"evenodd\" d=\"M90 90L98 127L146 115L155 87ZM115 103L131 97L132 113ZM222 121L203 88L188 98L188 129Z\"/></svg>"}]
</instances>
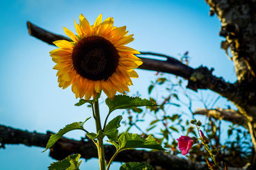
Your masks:
<instances>
[{"instance_id":1,"label":"partly sunlit leaf at bottom edge, left of the sunflower stem","mask_svg":"<svg viewBox=\"0 0 256 170\"><path fill-rule=\"evenodd\" d=\"M50 164L48 167L49 170L79 170L79 166L82 162L79 161L79 158L81 157L80 154L74 154L74 155L69 155L63 160L53 162Z\"/></svg>"}]
</instances>

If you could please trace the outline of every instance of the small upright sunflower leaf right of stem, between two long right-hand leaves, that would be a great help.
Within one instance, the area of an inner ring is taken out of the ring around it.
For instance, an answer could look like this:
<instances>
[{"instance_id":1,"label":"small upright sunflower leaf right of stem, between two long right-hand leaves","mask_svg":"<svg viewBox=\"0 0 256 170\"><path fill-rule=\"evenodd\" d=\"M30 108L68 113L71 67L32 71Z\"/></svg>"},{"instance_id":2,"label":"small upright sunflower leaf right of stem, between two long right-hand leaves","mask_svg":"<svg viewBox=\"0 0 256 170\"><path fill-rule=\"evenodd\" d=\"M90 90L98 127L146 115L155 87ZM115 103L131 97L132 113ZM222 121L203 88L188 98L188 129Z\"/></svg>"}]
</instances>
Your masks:
<instances>
[{"instance_id":1,"label":"small upright sunflower leaf right of stem, between two long right-hand leaves","mask_svg":"<svg viewBox=\"0 0 256 170\"><path fill-rule=\"evenodd\" d=\"M113 120L109 121L108 125L104 130L104 134L108 136L108 139L111 141L117 141L118 130L120 127L120 121L122 120L122 116L116 116Z\"/></svg>"}]
</instances>

